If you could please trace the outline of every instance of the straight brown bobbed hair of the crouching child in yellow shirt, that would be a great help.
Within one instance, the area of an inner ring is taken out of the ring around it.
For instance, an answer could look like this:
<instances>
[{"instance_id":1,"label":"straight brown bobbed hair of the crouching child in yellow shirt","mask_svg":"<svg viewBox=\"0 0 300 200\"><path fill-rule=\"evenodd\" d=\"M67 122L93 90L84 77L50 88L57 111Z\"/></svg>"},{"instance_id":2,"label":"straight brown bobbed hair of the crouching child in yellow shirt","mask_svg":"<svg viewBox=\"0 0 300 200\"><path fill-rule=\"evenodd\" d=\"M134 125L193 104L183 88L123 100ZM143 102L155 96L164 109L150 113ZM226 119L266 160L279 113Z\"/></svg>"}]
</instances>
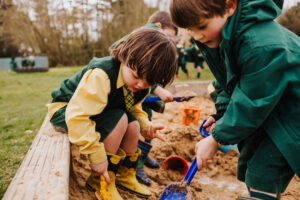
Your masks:
<instances>
[{"instance_id":1,"label":"straight brown bobbed hair of the crouching child in yellow shirt","mask_svg":"<svg viewBox=\"0 0 300 200\"><path fill-rule=\"evenodd\" d=\"M137 71L150 85L166 86L176 72L176 46L160 31L140 28L111 50L111 56Z\"/></svg>"}]
</instances>

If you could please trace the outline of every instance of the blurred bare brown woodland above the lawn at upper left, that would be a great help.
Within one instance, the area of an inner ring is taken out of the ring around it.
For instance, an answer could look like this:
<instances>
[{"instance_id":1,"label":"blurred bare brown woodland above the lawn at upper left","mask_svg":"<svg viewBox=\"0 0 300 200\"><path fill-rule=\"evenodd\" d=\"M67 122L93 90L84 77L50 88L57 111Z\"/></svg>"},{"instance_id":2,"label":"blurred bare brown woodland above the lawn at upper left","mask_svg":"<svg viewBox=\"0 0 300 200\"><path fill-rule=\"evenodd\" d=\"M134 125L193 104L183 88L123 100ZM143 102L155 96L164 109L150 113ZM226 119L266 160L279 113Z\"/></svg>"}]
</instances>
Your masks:
<instances>
[{"instance_id":1,"label":"blurred bare brown woodland above the lawn at upper left","mask_svg":"<svg viewBox=\"0 0 300 200\"><path fill-rule=\"evenodd\" d=\"M95 49L107 55L113 42L144 25L158 9L141 0L5 2L0 0L0 44L17 47L19 55L46 55L50 66L84 65Z\"/></svg>"}]
</instances>

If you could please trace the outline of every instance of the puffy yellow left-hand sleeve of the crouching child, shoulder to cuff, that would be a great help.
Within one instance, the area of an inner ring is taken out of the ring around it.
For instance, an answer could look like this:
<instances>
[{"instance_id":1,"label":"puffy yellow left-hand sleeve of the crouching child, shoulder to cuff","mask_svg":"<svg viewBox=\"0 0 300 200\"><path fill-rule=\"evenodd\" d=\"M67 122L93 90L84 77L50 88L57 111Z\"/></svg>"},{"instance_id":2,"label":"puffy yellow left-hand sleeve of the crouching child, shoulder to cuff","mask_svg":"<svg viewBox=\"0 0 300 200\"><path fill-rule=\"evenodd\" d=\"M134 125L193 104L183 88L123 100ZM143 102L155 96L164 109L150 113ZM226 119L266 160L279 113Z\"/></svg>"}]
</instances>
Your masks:
<instances>
[{"instance_id":1,"label":"puffy yellow left-hand sleeve of the crouching child, shoulder to cuff","mask_svg":"<svg viewBox=\"0 0 300 200\"><path fill-rule=\"evenodd\" d=\"M87 71L79 82L66 109L66 123L70 142L79 146L82 154L88 154L91 163L104 162L104 144L99 142L100 133L90 116L97 115L107 105L110 80L99 68Z\"/></svg>"}]
</instances>

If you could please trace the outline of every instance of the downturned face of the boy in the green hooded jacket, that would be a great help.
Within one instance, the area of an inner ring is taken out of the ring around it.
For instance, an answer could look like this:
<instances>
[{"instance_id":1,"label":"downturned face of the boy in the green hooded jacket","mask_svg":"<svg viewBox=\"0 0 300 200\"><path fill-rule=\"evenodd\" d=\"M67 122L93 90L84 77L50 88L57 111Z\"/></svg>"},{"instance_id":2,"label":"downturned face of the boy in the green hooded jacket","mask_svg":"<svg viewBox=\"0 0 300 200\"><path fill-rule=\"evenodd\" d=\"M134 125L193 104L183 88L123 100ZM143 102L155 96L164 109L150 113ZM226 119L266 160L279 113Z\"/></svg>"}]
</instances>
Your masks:
<instances>
[{"instance_id":1,"label":"downturned face of the boy in the green hooded jacket","mask_svg":"<svg viewBox=\"0 0 300 200\"><path fill-rule=\"evenodd\" d=\"M197 27L188 28L193 38L209 48L216 48L222 41L222 29L226 23L227 15L205 19Z\"/></svg>"}]
</instances>

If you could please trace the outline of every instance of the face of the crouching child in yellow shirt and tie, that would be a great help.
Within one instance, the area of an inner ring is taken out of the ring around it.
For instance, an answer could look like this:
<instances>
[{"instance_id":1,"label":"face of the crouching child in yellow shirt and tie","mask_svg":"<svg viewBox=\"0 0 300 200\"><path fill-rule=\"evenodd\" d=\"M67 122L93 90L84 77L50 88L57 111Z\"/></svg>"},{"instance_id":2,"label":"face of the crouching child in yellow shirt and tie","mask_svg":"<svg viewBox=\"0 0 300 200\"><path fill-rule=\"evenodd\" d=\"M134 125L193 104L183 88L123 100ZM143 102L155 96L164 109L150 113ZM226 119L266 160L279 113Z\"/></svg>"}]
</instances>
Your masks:
<instances>
[{"instance_id":1,"label":"face of the crouching child in yellow shirt and tie","mask_svg":"<svg viewBox=\"0 0 300 200\"><path fill-rule=\"evenodd\" d=\"M151 86L145 79L139 78L136 71L130 69L126 65L123 66L122 73L125 84L132 92L147 89Z\"/></svg>"}]
</instances>

